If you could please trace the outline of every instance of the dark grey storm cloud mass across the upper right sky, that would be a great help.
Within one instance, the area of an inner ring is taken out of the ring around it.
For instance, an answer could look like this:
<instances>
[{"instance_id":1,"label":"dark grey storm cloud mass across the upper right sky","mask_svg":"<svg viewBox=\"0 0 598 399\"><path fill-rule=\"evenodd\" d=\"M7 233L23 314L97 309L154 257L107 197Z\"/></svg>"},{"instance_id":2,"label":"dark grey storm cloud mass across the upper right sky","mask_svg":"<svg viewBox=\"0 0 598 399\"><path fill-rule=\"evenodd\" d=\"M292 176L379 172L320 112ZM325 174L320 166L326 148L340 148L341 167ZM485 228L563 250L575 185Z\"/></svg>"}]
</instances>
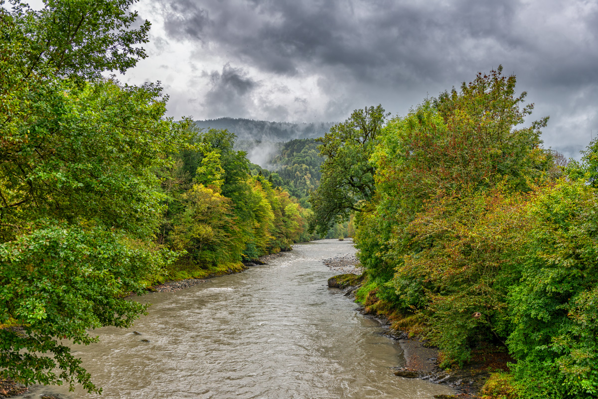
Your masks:
<instances>
[{"instance_id":1,"label":"dark grey storm cloud mass across the upper right sky","mask_svg":"<svg viewBox=\"0 0 598 399\"><path fill-rule=\"evenodd\" d=\"M388 101L393 112L502 64L537 111L552 113L553 126L598 128L588 107L598 100L596 2L162 1L171 39L196 38L228 51L233 65L280 76L317 73L323 85ZM419 99L411 98L416 92ZM329 109L340 112L342 104L365 105L339 97ZM551 129L555 148L587 143L581 133L564 137Z\"/></svg>"}]
</instances>

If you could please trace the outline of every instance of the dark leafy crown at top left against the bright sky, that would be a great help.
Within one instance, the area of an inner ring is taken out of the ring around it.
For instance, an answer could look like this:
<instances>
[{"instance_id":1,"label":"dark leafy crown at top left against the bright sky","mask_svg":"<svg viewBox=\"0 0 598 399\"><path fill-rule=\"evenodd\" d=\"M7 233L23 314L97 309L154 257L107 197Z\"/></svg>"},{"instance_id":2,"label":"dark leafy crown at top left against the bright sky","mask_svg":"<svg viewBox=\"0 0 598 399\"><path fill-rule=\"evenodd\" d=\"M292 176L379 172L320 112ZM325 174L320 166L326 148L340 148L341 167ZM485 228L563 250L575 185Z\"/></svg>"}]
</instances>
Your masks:
<instances>
[{"instance_id":1,"label":"dark leafy crown at top left against the bright sky","mask_svg":"<svg viewBox=\"0 0 598 399\"><path fill-rule=\"evenodd\" d=\"M100 79L105 70L124 73L135 66L147 57L138 45L148 42L151 25L146 20L131 29L138 14L129 8L137 1L44 0L45 7L35 11L12 0L15 29L9 41L29 44L17 61L23 76L43 72L81 83Z\"/></svg>"}]
</instances>

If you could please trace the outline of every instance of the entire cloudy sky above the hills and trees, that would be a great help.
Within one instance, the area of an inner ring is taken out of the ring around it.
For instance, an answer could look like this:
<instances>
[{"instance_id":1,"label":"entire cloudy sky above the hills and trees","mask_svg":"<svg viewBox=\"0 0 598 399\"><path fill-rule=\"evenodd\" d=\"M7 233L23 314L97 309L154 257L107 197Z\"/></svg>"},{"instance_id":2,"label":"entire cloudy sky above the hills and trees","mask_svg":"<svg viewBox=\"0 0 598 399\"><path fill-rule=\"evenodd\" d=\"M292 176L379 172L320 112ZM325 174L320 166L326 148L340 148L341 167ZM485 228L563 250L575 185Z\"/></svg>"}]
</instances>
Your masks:
<instances>
[{"instance_id":1,"label":"entire cloudy sky above the hills and trees","mask_svg":"<svg viewBox=\"0 0 598 399\"><path fill-rule=\"evenodd\" d=\"M576 156L598 134L597 0L144 0L149 57L172 116L343 121L502 64L550 115L545 146ZM578 157L578 156L576 156Z\"/></svg>"}]
</instances>

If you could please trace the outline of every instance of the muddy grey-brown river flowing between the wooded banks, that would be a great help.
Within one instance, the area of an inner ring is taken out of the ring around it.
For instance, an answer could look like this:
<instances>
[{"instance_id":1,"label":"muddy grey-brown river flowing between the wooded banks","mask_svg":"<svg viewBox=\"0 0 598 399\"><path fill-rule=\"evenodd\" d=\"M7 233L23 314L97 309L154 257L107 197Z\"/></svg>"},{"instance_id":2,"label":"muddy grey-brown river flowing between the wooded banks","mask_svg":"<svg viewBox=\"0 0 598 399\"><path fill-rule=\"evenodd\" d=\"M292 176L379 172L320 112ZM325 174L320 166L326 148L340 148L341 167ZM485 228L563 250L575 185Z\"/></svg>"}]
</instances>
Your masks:
<instances>
[{"instance_id":1,"label":"muddy grey-brown river flowing between the wooded banks","mask_svg":"<svg viewBox=\"0 0 598 399\"><path fill-rule=\"evenodd\" d=\"M74 345L104 398L432 398L443 385L393 375L401 348L339 290L322 260L354 253L321 240L246 272L147 294L129 330ZM141 335L134 334L133 330ZM142 339L149 342L142 342ZM25 397L97 398L79 386L33 386Z\"/></svg>"}]
</instances>

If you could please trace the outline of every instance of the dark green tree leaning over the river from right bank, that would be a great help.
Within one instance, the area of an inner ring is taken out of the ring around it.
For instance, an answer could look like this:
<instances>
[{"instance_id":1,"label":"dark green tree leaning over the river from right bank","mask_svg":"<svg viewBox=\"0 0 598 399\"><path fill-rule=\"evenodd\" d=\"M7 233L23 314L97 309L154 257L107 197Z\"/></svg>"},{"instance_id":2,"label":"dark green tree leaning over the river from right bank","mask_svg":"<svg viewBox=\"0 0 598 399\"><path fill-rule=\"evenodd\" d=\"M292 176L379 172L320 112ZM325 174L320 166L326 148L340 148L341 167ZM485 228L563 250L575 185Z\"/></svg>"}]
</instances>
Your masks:
<instances>
[{"instance_id":1,"label":"dark green tree leaning over the river from right bank","mask_svg":"<svg viewBox=\"0 0 598 399\"><path fill-rule=\"evenodd\" d=\"M350 118L334 125L318 139L324 157L322 179L310 195L314 218L310 229L326 234L332 222L361 211L362 201L376 192L370 156L388 114L381 105L356 109Z\"/></svg>"}]
</instances>

